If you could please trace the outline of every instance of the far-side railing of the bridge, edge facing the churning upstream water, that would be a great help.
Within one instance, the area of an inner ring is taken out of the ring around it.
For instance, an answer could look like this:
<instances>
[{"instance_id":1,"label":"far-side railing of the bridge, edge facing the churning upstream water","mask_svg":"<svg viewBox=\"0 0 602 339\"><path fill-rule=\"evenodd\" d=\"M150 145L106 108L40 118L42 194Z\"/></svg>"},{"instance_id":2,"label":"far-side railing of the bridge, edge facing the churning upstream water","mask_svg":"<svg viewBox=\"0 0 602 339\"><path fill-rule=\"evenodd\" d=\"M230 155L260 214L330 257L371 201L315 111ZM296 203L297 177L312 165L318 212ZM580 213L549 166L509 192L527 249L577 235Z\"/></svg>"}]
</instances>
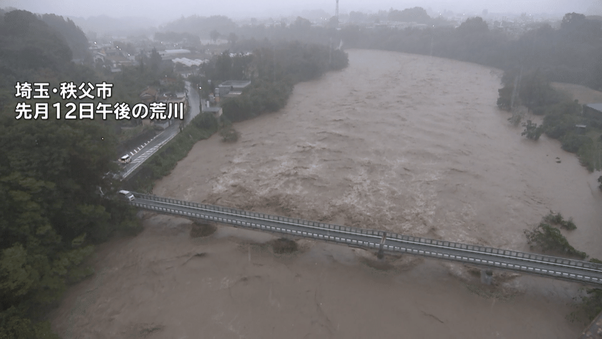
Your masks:
<instances>
[{"instance_id":1,"label":"far-side railing of the bridge, edge facing the churning upstream water","mask_svg":"<svg viewBox=\"0 0 602 339\"><path fill-rule=\"evenodd\" d=\"M264 213L258 213L258 212L250 212L250 211L244 211L244 210L234 209L234 208L226 208L226 207L215 206L215 205L210 205L210 204L193 203L191 201L183 201L183 200L172 199L172 198L157 197L156 195L142 194L142 193L137 193L137 192L132 192L132 194L134 194L134 196L137 198L143 198L143 199L147 199L147 200L179 204L182 206L188 206L188 207L192 207L192 208L208 209L210 211L225 212L225 213L234 214L234 215L241 215L244 217L263 218L263 219L273 220L273 221L280 222L280 223L301 224L301 225L310 226L310 227L319 227L321 229L336 230L338 232L342 231L342 232L349 232L349 233L360 233L362 235L374 236L375 238L382 238L382 236L385 234L385 231L382 231L382 230L361 229L361 228L356 228L356 227L341 226L341 225L337 225L337 224L328 224L328 223L320 223L317 221L302 220L302 219L297 219L297 218L281 217L279 215L270 215L270 214L264 214ZM401 234L392 233L392 232L386 232L386 238L394 240L394 241L400 241L400 242L424 244L424 245L429 245L429 246L434 246L434 247L443 247L443 248L448 248L448 249L459 249L459 250L464 250L465 252L477 252L477 253L488 254L488 255L492 255L492 256L506 256L506 257L512 257L512 258L516 258L516 259L520 259L520 260L524 260L524 261L535 260L535 261L542 261L542 262L550 262L551 264L562 264L562 265L568 265L568 266L578 267L578 268L588 268L590 270L597 270L597 271L602 272L602 264L596 264L594 262L588 262L588 261L580 261L580 260L576 260L576 259L566 259L566 258L558 258L555 256L539 255L539 254L535 254L535 253L526 253L526 252L519 252L519 251L512 251L512 250L495 249L493 247L485 247L485 246L478 246L478 245L462 244L461 242L442 241L442 240L437 240L437 239L421 238L418 236L401 235ZM376 244L376 246L378 246L378 244ZM387 247L385 247L385 250L386 250L386 248Z\"/></svg>"}]
</instances>

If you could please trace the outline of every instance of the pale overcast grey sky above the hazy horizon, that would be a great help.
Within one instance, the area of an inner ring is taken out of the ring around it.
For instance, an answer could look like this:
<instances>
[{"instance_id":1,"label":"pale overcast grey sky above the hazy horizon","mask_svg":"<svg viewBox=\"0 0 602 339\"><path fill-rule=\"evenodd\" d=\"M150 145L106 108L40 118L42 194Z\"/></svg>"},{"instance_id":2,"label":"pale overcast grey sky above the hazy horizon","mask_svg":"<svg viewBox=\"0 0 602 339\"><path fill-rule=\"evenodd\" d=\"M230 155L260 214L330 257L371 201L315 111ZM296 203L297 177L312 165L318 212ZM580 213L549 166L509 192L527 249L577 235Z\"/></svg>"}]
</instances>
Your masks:
<instances>
[{"instance_id":1,"label":"pale overcast grey sky above the hazy horizon","mask_svg":"<svg viewBox=\"0 0 602 339\"><path fill-rule=\"evenodd\" d=\"M234 18L241 17L279 17L289 16L303 10L322 9L334 14L336 0L0 0L0 7L16 7L34 13L55 13L69 16L112 17L144 16L157 23L171 21L177 17L198 14L215 14ZM602 0L431 0L431 1L391 1L391 0L340 0L341 13L352 10L378 11L389 8L403 9L420 6L432 10L452 10L481 13L488 9L490 13L585 13L588 8L602 12ZM591 13L595 14L595 13ZM600 14L600 13L599 13Z\"/></svg>"}]
</instances>

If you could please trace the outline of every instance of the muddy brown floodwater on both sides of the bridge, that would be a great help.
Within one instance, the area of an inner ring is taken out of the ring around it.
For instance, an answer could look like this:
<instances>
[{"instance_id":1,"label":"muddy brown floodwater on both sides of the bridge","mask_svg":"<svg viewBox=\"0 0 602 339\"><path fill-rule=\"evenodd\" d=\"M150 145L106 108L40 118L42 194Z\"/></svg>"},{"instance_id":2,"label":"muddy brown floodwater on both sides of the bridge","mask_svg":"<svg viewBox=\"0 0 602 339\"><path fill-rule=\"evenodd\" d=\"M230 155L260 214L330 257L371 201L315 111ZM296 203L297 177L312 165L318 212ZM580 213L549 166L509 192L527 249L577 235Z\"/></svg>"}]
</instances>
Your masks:
<instances>
[{"instance_id":1,"label":"muddy brown floodwater on both sides of the bridge","mask_svg":"<svg viewBox=\"0 0 602 339\"><path fill-rule=\"evenodd\" d=\"M500 76L350 50L347 69L297 84L281 112L235 124L237 143L198 142L154 194L515 250L528 250L523 230L551 209L574 218L571 244L602 258L600 173L545 136L521 138L495 106ZM488 287L459 264L378 262L312 241L276 256L256 245L268 234L219 227L194 241L190 221L146 214L144 224L101 246L93 264L104 275L69 292L53 315L59 333L514 339L583 328L565 319L580 287L569 282L496 272L494 292L514 296L503 302L469 293L463 284Z\"/></svg>"}]
</instances>

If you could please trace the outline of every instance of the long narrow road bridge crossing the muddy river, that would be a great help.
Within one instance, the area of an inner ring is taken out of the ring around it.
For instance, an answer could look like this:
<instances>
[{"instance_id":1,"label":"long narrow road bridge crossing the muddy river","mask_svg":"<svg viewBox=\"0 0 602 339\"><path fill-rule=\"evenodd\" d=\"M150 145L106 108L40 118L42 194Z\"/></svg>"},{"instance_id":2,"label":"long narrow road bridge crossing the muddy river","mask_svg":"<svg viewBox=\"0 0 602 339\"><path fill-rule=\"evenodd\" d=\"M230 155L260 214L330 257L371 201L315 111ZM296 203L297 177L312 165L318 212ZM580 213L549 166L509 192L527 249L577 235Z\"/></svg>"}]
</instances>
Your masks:
<instances>
[{"instance_id":1,"label":"long narrow road bridge crossing the muddy river","mask_svg":"<svg viewBox=\"0 0 602 339\"><path fill-rule=\"evenodd\" d=\"M377 250L380 254L411 254L479 265L481 267L538 274L554 279L602 287L602 264L535 253L494 249L459 242L418 238L382 230L359 229L316 221L268 215L209 204L199 204L132 192L129 204L161 214L214 221L235 227L337 242Z\"/></svg>"}]
</instances>

